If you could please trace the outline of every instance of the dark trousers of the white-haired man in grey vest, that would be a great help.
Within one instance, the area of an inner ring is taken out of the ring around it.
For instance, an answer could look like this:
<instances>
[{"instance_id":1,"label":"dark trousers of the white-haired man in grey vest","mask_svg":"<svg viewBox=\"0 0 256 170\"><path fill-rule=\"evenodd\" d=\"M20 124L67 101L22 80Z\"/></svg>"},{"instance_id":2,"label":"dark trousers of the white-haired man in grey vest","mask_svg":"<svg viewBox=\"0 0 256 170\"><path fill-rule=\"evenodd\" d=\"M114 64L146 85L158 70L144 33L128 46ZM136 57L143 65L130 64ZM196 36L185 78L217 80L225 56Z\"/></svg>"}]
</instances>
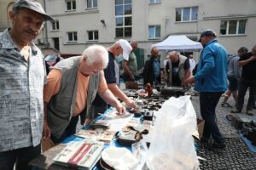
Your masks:
<instances>
[{"instance_id":1,"label":"dark trousers of the white-haired man in grey vest","mask_svg":"<svg viewBox=\"0 0 256 170\"><path fill-rule=\"evenodd\" d=\"M76 127L77 124L79 122L79 116L73 116L67 126L67 128L65 129L64 133L61 135L61 138L57 139L55 138L54 135L50 136L50 139L55 143L61 143L62 140L66 139L68 136L73 135L74 133L76 133Z\"/></svg>"}]
</instances>

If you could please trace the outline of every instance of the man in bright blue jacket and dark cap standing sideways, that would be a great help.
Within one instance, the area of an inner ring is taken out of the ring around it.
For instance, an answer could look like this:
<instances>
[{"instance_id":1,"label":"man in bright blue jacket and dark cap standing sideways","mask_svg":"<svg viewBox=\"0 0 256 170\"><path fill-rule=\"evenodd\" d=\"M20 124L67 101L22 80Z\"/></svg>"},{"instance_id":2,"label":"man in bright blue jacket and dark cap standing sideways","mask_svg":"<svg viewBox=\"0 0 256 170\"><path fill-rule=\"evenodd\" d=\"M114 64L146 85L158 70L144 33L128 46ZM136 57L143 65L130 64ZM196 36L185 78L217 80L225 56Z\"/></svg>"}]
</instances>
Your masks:
<instances>
[{"instance_id":1,"label":"man in bright blue jacket and dark cap standing sideways","mask_svg":"<svg viewBox=\"0 0 256 170\"><path fill-rule=\"evenodd\" d=\"M205 120L201 142L210 149L224 149L226 145L218 129L215 109L221 94L227 89L228 54L218 43L216 33L212 30L201 33L201 43L204 49L201 52L197 72L185 82L195 82L195 90L200 92L201 116ZM214 142L208 144L211 136Z\"/></svg>"}]
</instances>

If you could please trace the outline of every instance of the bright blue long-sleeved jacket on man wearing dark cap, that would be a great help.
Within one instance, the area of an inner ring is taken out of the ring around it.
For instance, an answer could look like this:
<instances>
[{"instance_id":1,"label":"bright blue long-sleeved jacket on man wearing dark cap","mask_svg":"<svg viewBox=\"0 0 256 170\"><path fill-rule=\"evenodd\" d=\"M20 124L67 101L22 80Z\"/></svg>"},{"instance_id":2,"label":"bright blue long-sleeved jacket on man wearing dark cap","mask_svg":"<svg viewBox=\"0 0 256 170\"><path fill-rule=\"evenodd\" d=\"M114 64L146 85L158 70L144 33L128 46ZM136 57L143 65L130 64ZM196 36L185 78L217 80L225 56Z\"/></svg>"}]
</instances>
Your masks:
<instances>
[{"instance_id":1,"label":"bright blue long-sleeved jacket on man wearing dark cap","mask_svg":"<svg viewBox=\"0 0 256 170\"><path fill-rule=\"evenodd\" d=\"M198 92L224 92L227 89L228 54L217 40L208 42L201 52L195 74Z\"/></svg>"}]
</instances>

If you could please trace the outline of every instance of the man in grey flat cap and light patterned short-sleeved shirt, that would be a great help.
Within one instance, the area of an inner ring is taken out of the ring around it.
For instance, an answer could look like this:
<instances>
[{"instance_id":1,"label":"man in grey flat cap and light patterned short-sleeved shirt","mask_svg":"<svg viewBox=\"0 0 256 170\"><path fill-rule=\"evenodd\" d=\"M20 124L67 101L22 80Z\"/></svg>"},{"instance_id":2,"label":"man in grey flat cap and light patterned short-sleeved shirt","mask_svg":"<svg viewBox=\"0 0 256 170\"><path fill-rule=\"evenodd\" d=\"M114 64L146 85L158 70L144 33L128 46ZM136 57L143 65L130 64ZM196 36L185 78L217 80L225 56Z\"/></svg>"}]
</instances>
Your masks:
<instances>
[{"instance_id":1,"label":"man in grey flat cap and light patterned short-sleeved shirt","mask_svg":"<svg viewBox=\"0 0 256 170\"><path fill-rule=\"evenodd\" d=\"M12 27L0 36L0 169L26 170L41 153L44 122L44 55L32 42L45 20L54 20L34 0L19 0L9 12Z\"/></svg>"}]
</instances>

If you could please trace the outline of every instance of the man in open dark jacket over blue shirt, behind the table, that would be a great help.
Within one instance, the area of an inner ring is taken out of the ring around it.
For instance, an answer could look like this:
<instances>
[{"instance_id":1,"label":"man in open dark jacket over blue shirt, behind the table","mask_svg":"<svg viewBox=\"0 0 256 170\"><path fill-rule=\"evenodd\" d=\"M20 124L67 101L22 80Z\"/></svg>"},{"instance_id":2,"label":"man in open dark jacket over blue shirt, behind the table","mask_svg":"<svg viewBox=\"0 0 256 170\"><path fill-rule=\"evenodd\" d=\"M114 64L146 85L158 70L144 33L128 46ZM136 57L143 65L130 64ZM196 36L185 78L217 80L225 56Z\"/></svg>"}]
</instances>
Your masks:
<instances>
[{"instance_id":1,"label":"man in open dark jacket over blue shirt, behind the table","mask_svg":"<svg viewBox=\"0 0 256 170\"><path fill-rule=\"evenodd\" d=\"M143 69L143 82L144 85L148 82L151 85L158 85L161 83L160 59L158 59L158 48L151 49L151 57L146 61Z\"/></svg>"}]
</instances>

